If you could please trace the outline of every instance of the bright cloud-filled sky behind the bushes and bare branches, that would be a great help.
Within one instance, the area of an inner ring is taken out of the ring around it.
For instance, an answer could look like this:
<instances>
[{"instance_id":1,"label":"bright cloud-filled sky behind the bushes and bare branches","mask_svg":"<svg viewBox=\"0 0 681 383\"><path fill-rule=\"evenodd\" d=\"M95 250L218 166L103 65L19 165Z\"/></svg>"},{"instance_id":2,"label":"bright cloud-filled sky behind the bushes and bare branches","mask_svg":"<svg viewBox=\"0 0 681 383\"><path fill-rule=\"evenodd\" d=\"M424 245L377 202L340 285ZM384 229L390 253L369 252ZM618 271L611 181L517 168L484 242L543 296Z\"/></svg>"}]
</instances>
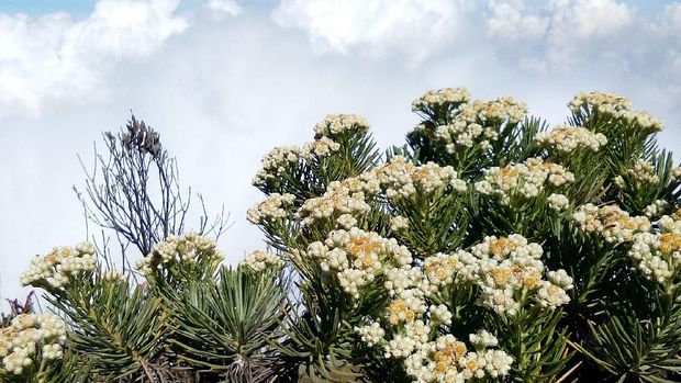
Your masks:
<instances>
[{"instance_id":1,"label":"bright cloud-filled sky behind the bushes and bare branches","mask_svg":"<svg viewBox=\"0 0 681 383\"><path fill-rule=\"evenodd\" d=\"M77 155L89 166L131 111L181 183L231 212L219 245L237 262L264 246L246 210L269 149L330 113L401 145L411 101L458 86L551 125L579 91L626 95L681 153L681 2L0 0L0 297L25 294L33 256L86 239Z\"/></svg>"}]
</instances>

